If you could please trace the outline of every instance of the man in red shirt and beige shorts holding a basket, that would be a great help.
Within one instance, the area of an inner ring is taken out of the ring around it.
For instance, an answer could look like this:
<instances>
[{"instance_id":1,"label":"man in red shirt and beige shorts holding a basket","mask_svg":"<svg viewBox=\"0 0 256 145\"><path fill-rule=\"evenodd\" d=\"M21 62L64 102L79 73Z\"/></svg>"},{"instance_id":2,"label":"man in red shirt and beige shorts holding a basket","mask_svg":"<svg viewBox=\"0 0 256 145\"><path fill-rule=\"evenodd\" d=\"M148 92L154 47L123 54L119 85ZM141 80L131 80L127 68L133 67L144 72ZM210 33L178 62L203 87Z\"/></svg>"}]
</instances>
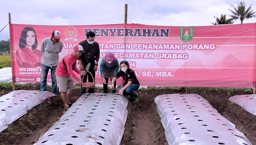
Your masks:
<instances>
[{"instance_id":1,"label":"man in red shirt and beige shorts holding a basket","mask_svg":"<svg viewBox=\"0 0 256 145\"><path fill-rule=\"evenodd\" d=\"M84 74L84 71L80 71L76 67L76 61L78 57L84 52L81 45L74 47L74 52L66 55L58 64L56 69L56 79L59 85L59 92L61 99L64 103L65 109L69 109L72 103L70 102L70 96L75 89L73 79L76 79L78 84L82 85L80 77L77 77L73 70L77 74ZM71 78L72 77L72 78Z\"/></svg>"}]
</instances>

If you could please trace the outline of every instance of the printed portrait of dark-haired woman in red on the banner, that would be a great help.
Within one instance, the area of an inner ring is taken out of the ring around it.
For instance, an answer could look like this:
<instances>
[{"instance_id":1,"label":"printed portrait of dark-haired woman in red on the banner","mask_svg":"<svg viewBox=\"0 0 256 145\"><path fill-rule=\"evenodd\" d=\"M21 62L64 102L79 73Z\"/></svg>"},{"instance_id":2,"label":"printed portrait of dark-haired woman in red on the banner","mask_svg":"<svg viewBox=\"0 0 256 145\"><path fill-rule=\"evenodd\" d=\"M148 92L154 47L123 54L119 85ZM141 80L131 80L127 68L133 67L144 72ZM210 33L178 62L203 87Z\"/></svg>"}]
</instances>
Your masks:
<instances>
[{"instance_id":1,"label":"printed portrait of dark-haired woman in red on the banner","mask_svg":"<svg viewBox=\"0 0 256 145\"><path fill-rule=\"evenodd\" d=\"M19 39L16 60L19 67L41 67L41 51L37 50L37 34L32 27L25 27Z\"/></svg>"}]
</instances>

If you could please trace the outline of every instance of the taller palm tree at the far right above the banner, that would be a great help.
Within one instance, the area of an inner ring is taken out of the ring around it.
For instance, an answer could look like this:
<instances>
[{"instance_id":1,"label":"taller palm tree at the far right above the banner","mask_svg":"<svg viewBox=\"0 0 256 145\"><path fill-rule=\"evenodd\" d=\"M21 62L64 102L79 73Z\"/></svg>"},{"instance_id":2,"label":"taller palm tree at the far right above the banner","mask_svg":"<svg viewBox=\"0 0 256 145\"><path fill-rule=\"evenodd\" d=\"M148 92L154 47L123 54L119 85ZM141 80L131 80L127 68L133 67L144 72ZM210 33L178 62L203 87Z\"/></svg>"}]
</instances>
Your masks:
<instances>
[{"instance_id":1,"label":"taller palm tree at the far right above the banner","mask_svg":"<svg viewBox=\"0 0 256 145\"><path fill-rule=\"evenodd\" d=\"M230 5L233 8L233 10L228 9L231 12L231 15L229 16L231 17L232 20L240 19L242 24L244 19L256 17L256 12L252 10L252 5L250 5L246 10L244 1L241 1L240 3L238 2L237 4L237 7L235 7L232 4Z\"/></svg>"}]
</instances>

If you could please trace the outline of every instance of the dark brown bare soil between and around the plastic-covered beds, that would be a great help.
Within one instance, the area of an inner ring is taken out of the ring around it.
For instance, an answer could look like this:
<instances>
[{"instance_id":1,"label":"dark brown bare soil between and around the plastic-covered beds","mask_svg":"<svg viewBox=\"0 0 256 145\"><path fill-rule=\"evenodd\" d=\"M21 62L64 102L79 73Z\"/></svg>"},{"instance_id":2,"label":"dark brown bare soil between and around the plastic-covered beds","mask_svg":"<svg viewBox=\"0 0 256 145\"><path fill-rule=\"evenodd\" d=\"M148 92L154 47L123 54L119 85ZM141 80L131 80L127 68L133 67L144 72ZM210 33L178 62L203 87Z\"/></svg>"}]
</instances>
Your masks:
<instances>
[{"instance_id":1,"label":"dark brown bare soil between and around the plastic-covered beds","mask_svg":"<svg viewBox=\"0 0 256 145\"><path fill-rule=\"evenodd\" d=\"M40 84L16 88L16 90L40 90ZM0 88L0 96L12 91ZM51 86L46 91L51 92ZM96 89L103 93L103 89ZM110 91L111 92L111 91ZM165 130L162 127L156 110L154 98L162 94L185 93L180 90L139 90L140 101L128 104L128 117L125 132L120 145L168 145ZM237 92L210 90L209 88L189 89L189 94L198 94L207 99L224 117L229 119L236 128L244 133L253 145L256 145L256 116L243 110L237 104L228 101L234 95L246 94L243 89ZM71 97L75 101L80 97L80 89L76 89ZM38 141L63 115L63 103L60 95L47 99L17 119L11 126L0 133L0 145L32 145Z\"/></svg>"}]
</instances>

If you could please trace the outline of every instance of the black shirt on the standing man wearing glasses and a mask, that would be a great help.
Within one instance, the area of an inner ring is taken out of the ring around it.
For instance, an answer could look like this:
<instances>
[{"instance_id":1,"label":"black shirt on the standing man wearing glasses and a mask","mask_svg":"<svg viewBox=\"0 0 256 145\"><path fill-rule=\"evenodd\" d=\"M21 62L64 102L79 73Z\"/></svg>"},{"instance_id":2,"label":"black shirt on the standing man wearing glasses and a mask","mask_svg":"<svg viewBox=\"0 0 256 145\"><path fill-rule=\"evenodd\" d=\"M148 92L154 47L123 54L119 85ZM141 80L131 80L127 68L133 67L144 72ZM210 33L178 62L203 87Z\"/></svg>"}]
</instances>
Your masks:
<instances>
[{"instance_id":1,"label":"black shirt on the standing man wearing glasses and a mask","mask_svg":"<svg viewBox=\"0 0 256 145\"><path fill-rule=\"evenodd\" d=\"M84 53L78 58L78 60L82 61L82 65L84 68L90 62L90 68L94 68L95 61L99 61L100 58L100 47L98 42L94 42L93 44L89 44L87 40L81 41L79 45L83 46Z\"/></svg>"}]
</instances>

